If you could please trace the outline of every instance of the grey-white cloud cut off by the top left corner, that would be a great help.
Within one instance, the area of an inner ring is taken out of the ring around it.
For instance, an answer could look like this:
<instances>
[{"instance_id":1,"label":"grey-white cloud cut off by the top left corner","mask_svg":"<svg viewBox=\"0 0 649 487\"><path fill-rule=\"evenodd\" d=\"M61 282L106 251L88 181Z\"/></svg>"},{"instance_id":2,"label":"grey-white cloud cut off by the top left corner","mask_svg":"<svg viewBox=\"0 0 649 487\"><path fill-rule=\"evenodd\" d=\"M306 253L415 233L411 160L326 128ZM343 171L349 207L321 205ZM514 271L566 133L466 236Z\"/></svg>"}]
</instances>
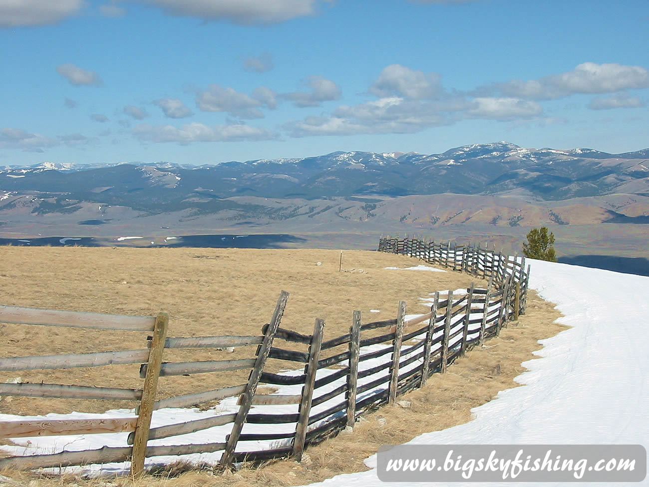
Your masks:
<instances>
[{"instance_id":1,"label":"grey-white cloud cut off by the top left corner","mask_svg":"<svg viewBox=\"0 0 649 487\"><path fill-rule=\"evenodd\" d=\"M76 14L83 0L3 0L0 27L47 25Z\"/></svg>"}]
</instances>

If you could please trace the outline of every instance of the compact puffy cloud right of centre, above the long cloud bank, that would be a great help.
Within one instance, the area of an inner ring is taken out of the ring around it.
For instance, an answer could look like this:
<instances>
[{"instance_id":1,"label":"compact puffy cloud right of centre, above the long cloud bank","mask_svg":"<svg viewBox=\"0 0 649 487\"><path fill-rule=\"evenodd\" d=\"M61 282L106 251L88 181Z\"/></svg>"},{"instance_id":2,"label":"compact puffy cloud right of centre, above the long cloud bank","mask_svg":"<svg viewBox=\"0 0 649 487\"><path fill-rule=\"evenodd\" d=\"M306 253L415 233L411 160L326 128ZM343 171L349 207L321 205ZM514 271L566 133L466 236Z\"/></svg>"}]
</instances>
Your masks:
<instances>
[{"instance_id":1,"label":"compact puffy cloud right of centre, above the long cloud bank","mask_svg":"<svg viewBox=\"0 0 649 487\"><path fill-rule=\"evenodd\" d=\"M401 64L391 64L381 71L369 92L378 97L431 99L441 93L440 80L438 73L424 73Z\"/></svg>"}]
</instances>

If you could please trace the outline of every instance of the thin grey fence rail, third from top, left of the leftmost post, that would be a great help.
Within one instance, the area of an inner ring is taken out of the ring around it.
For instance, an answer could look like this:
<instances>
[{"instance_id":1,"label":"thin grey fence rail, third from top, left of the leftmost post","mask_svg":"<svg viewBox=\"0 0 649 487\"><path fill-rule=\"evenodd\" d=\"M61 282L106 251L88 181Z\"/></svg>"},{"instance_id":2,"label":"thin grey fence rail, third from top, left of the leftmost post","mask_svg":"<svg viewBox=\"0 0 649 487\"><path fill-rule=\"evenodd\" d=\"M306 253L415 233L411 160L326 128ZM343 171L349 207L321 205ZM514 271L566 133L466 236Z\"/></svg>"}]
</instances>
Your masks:
<instances>
[{"instance_id":1,"label":"thin grey fence rail, third from top, left of the leftmost post","mask_svg":"<svg viewBox=\"0 0 649 487\"><path fill-rule=\"evenodd\" d=\"M73 399L112 399L117 401L139 401L140 389L118 389L91 386L64 386L61 384L1 384L0 395L20 397L63 397Z\"/></svg>"}]
</instances>

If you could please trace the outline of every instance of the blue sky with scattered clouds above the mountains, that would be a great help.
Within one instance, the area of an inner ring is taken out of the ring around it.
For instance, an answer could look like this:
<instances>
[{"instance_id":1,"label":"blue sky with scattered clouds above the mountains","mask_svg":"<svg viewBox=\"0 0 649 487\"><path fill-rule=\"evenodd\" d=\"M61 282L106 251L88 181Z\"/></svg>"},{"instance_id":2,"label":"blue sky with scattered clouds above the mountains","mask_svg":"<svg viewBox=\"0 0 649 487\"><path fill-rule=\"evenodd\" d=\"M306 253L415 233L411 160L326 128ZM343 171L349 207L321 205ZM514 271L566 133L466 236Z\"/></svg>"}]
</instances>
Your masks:
<instances>
[{"instance_id":1,"label":"blue sky with scattered clouds above the mountains","mask_svg":"<svg viewBox=\"0 0 649 487\"><path fill-rule=\"evenodd\" d=\"M0 0L0 165L649 147L646 0Z\"/></svg>"}]
</instances>

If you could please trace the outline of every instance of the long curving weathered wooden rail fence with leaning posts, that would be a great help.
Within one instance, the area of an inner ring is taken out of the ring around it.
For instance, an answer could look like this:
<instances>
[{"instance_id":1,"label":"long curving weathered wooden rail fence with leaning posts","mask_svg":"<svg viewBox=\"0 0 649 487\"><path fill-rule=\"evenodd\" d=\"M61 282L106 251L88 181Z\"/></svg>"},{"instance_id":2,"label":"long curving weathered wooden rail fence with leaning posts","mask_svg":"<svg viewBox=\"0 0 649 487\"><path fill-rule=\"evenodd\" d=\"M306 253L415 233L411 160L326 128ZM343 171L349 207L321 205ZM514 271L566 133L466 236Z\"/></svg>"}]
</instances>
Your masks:
<instances>
[{"instance_id":1,"label":"long curving weathered wooden rail fence with leaning posts","mask_svg":"<svg viewBox=\"0 0 649 487\"><path fill-rule=\"evenodd\" d=\"M488 279L489 286L478 289L472 285L463 293L437 292L430 312L407 321L404 301L398 303L395 319L362 323L361 312L354 311L349 333L328 340L324 340L322 319L315 321L310 335L280 328L288 299L286 292L280 295L273 317L262 328L260 336L167 338L169 319L162 313L157 317L132 317L0 306L0 322L5 323L153 331L153 336L148 337L147 348L141 350L0 358L0 370L146 362L140 369L143 387L138 390L62 384L0 384L0 395L139 401L138 414L132 418L0 422L0 436L6 438L130 432L127 445L123 447L0 458L0 469L130 460L132 473L140 475L148 456L214 451L223 451L221 465L224 467L244 460L281 456L300 460L307 445L322 442L347 427L353 427L363 412L394 403L399 395L424 385L433 373L444 373L458 356L498 335L510 319L517 319L525 310L530 271L529 267L524 269L524 258L511 258L480 247L443 245L408 238L382 238L379 250L410 255L430 264L470 273ZM164 349L245 345L257 345L254 358L162 362ZM297 362L304 369L297 374L271 373L264 371L268 360ZM156 401L159 377L242 368L251 369L246 384ZM256 394L260 384L288 390L293 386L295 393ZM232 396L239 396L236 413L150 428L154 410L195 406ZM289 405L295 412L273 412L273 407L268 412L250 412L251 406L263 410L263 406L277 405ZM222 440L220 442L147 446L148 440L230 423L230 434L217 438ZM258 428L251 425L265 425L264 431L270 432L258 432ZM258 441L273 443L263 450L241 448L245 442Z\"/></svg>"}]
</instances>

